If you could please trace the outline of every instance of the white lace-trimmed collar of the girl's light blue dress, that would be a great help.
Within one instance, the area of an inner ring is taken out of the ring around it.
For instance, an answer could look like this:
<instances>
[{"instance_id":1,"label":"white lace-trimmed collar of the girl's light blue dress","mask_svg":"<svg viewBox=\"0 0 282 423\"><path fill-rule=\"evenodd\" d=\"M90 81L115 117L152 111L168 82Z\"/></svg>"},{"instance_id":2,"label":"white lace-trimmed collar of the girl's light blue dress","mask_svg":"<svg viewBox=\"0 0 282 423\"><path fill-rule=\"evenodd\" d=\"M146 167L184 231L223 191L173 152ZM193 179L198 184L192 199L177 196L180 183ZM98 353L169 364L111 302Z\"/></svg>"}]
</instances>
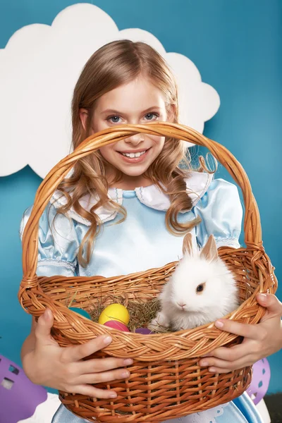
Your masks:
<instances>
[{"instance_id":1,"label":"white lace-trimmed collar of the girl's light blue dress","mask_svg":"<svg viewBox=\"0 0 282 423\"><path fill-rule=\"evenodd\" d=\"M210 183L212 182L213 175L209 173L191 172L190 177L185 179L187 193L192 200L193 207L202 198ZM157 185L149 185L149 187L135 188L136 196L140 202L145 204L147 207L152 209L166 211L170 206L171 202L169 196L161 192ZM110 188L108 192L109 198L114 200L118 204L123 204L123 190L121 188ZM58 190L54 192L50 200L51 204L58 209L59 207L66 204L66 197ZM94 204L97 203L97 197L85 195L80 200L82 207L89 211ZM107 210L106 207L99 207L96 210L96 214L102 220L102 222L111 221L116 217L116 211ZM90 221L84 219L73 208L68 210L67 215L79 223L83 223L86 226L90 226Z\"/></svg>"}]
</instances>

